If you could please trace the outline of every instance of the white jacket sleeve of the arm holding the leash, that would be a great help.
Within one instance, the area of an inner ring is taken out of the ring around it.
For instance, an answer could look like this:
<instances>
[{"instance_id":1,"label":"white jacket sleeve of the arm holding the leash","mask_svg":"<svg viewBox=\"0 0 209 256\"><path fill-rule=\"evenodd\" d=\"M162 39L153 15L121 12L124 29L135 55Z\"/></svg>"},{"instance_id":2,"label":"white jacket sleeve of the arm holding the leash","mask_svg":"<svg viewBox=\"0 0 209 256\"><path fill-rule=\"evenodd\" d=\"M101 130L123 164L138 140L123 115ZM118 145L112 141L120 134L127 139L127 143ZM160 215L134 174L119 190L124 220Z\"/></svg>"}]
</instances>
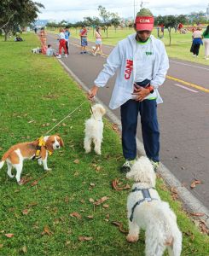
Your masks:
<instances>
[{"instance_id":1,"label":"white jacket sleeve of the arm holding the leash","mask_svg":"<svg viewBox=\"0 0 209 256\"><path fill-rule=\"evenodd\" d=\"M111 54L107 57L107 62L104 64L101 73L98 74L95 84L98 87L104 87L108 79L112 78L116 73L117 68L121 67L121 55L119 44L115 46Z\"/></svg>"}]
</instances>

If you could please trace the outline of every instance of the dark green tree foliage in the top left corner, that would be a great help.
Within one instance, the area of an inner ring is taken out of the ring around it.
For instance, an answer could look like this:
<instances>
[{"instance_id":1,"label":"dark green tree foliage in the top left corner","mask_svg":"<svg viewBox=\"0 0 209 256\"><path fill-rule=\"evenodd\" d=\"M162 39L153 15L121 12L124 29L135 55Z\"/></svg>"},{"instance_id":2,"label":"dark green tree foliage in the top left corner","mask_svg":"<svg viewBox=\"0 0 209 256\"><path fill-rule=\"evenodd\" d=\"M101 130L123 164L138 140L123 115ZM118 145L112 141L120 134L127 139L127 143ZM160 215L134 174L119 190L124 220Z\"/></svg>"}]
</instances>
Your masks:
<instances>
[{"instance_id":1,"label":"dark green tree foliage in the top left corner","mask_svg":"<svg viewBox=\"0 0 209 256\"><path fill-rule=\"evenodd\" d=\"M0 27L5 33L5 41L9 32L14 32L16 27L32 23L38 17L40 8L44 8L44 5L32 0L1 0Z\"/></svg>"}]
</instances>

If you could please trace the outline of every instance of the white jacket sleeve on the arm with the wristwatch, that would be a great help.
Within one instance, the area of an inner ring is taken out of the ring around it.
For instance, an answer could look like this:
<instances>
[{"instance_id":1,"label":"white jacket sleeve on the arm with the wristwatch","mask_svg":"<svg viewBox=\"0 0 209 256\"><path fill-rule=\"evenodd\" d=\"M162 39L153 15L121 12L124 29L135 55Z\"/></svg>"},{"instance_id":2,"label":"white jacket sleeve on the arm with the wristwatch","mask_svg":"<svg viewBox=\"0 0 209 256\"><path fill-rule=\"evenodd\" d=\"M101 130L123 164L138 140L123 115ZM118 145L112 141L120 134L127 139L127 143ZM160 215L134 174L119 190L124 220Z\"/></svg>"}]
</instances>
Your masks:
<instances>
[{"instance_id":1,"label":"white jacket sleeve on the arm with the wristwatch","mask_svg":"<svg viewBox=\"0 0 209 256\"><path fill-rule=\"evenodd\" d=\"M155 75L154 79L151 80L150 84L157 89L160 85L165 82L165 76L167 70L169 68L169 60L168 55L165 50L165 45L161 43L161 50L160 50L160 66L157 74Z\"/></svg>"}]
</instances>

